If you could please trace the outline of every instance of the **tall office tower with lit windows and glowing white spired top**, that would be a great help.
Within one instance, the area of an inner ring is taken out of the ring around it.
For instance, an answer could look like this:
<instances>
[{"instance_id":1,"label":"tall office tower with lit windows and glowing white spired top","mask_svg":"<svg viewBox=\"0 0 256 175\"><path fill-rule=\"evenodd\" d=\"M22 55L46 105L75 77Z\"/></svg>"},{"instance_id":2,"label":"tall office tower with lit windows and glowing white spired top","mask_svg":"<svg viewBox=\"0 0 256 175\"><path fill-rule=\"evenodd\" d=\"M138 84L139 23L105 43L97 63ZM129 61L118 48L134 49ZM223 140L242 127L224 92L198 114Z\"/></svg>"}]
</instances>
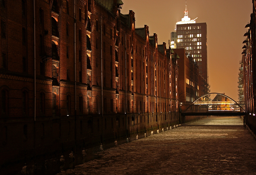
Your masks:
<instances>
[{"instance_id":1,"label":"tall office tower with lit windows and glowing white spired top","mask_svg":"<svg viewBox=\"0 0 256 175\"><path fill-rule=\"evenodd\" d=\"M209 92L208 68L207 68L207 24L196 23L197 18L191 20L188 17L187 6L185 15L181 21L176 22L175 32L171 33L171 43L173 48L185 48L185 52L197 62L199 75L201 78L201 94Z\"/></svg>"}]
</instances>

